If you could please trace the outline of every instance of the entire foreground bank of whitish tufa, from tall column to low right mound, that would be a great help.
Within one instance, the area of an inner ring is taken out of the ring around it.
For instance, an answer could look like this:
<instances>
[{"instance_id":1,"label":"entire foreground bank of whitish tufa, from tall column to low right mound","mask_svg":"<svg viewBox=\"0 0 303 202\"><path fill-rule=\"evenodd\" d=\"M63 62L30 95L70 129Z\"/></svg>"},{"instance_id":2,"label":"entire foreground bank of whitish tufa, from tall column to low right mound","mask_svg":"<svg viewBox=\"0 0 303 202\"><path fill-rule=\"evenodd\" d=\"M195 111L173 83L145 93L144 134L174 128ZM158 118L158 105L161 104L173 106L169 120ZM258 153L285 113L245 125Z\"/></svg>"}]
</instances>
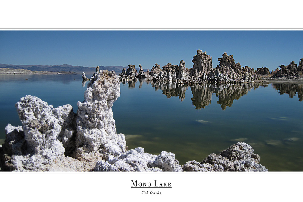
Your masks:
<instances>
[{"instance_id":1,"label":"entire foreground bank of whitish tufa, from tall column to low right mound","mask_svg":"<svg viewBox=\"0 0 303 202\"><path fill-rule=\"evenodd\" d=\"M0 147L1 170L222 171L222 167L224 171L266 170L245 143L238 143L241 148L234 145L239 149L230 147L223 151L220 156L227 160L215 156L208 162L188 162L183 169L171 152L162 151L157 156L145 153L140 147L128 151L125 136L117 134L111 109L119 95L119 77L114 71L101 70L90 78L84 101L77 103L77 114L71 105L54 108L37 97L21 98L16 107L22 126L8 124L5 128L6 140Z\"/></svg>"}]
</instances>

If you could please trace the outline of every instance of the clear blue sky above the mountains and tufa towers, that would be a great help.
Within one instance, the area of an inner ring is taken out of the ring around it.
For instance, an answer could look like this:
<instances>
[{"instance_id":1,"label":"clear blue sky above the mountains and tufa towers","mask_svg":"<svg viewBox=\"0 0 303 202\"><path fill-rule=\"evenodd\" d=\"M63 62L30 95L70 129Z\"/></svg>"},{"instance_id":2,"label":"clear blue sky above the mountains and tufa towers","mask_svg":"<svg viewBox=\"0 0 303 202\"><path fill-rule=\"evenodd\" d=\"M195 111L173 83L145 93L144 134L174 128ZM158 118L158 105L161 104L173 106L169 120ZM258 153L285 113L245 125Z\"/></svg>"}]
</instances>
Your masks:
<instances>
[{"instance_id":1,"label":"clear blue sky above the mountains and tufa towers","mask_svg":"<svg viewBox=\"0 0 303 202\"><path fill-rule=\"evenodd\" d=\"M224 52L251 68L276 69L303 58L303 31L0 31L0 63L79 65L141 64L151 69L181 60L191 68L197 49Z\"/></svg>"}]
</instances>

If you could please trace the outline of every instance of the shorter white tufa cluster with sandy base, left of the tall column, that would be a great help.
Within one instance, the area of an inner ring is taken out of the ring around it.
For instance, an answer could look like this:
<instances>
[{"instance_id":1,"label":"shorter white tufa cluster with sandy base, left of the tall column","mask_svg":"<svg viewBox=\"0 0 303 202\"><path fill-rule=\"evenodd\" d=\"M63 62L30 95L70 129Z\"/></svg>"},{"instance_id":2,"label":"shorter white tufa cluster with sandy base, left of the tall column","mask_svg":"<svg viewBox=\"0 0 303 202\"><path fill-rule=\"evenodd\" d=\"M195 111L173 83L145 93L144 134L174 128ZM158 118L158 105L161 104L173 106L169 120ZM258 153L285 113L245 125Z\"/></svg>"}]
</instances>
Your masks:
<instances>
[{"instance_id":1,"label":"shorter white tufa cluster with sandy base, left of the tall column","mask_svg":"<svg viewBox=\"0 0 303 202\"><path fill-rule=\"evenodd\" d=\"M5 128L6 140L0 155L2 170L87 171L88 167L80 161L65 157L62 142L57 139L62 134L61 139L68 141L62 128L70 130L69 123L73 122L69 120L74 115L69 106L53 108L37 97L21 98L16 107L22 127L8 124Z\"/></svg>"}]
</instances>

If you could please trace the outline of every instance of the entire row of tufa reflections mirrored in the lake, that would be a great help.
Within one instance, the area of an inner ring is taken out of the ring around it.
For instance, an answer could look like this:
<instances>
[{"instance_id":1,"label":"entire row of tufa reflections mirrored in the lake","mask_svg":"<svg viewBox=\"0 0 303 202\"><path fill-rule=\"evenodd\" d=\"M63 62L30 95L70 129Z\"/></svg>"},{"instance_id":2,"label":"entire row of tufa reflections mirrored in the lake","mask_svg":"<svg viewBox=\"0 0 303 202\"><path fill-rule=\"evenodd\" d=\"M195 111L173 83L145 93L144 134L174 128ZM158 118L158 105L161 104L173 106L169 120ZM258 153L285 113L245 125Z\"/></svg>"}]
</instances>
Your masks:
<instances>
[{"instance_id":1,"label":"entire row of tufa reflections mirrored in the lake","mask_svg":"<svg viewBox=\"0 0 303 202\"><path fill-rule=\"evenodd\" d=\"M144 81L140 81L140 86ZM192 92L192 104L197 110L205 108L211 104L211 97L215 94L218 97L217 104L221 105L222 110L226 107L231 107L234 100L240 99L248 92L259 87L266 88L269 84L205 84L190 86ZM130 86L130 85L129 85ZM169 82L156 82L151 83L151 86L156 90L162 90L163 95L167 98L179 97L181 101L185 98L185 92L189 86L179 85L178 83ZM132 87L135 87L135 82L132 81ZM299 101L303 100L303 84L272 84L272 87L280 90L280 94L287 93L290 98L293 98L298 92Z\"/></svg>"}]
</instances>

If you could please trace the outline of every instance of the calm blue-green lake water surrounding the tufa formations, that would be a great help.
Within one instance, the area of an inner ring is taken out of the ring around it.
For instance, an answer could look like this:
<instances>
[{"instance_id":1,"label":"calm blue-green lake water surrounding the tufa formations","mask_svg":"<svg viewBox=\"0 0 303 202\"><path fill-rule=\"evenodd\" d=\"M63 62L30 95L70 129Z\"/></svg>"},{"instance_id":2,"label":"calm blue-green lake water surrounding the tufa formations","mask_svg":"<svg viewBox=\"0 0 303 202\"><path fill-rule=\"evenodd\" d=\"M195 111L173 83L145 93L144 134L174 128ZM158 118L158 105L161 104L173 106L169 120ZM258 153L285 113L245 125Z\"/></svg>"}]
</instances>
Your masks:
<instances>
[{"instance_id":1,"label":"calm blue-green lake water surrounding the tufa formations","mask_svg":"<svg viewBox=\"0 0 303 202\"><path fill-rule=\"evenodd\" d=\"M25 80L28 78L28 80ZM25 95L58 107L83 101L81 75L0 75L0 142L10 123L21 125L15 103ZM120 84L112 111L129 149L173 152L183 165L250 144L268 171L302 171L303 84L227 84L177 87Z\"/></svg>"}]
</instances>

